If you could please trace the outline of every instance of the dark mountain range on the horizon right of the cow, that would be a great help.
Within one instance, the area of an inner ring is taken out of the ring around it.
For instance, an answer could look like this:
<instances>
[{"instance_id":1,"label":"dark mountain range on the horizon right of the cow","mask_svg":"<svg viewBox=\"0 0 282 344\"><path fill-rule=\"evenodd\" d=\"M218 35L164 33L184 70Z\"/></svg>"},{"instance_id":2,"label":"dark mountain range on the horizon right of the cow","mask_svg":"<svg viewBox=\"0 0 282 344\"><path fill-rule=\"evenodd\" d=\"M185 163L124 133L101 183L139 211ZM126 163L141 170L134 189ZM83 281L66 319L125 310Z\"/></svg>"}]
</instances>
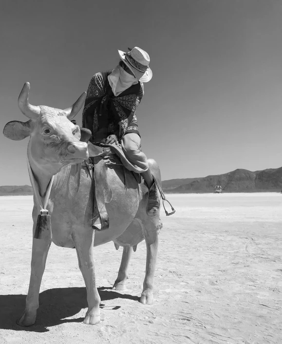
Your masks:
<instances>
[{"instance_id":1,"label":"dark mountain range on the horizon right of the cow","mask_svg":"<svg viewBox=\"0 0 282 344\"><path fill-rule=\"evenodd\" d=\"M267 192L282 190L282 167L251 172L237 169L203 178L170 179L162 182L163 191L170 193L213 192L221 185L223 192Z\"/></svg>"}]
</instances>

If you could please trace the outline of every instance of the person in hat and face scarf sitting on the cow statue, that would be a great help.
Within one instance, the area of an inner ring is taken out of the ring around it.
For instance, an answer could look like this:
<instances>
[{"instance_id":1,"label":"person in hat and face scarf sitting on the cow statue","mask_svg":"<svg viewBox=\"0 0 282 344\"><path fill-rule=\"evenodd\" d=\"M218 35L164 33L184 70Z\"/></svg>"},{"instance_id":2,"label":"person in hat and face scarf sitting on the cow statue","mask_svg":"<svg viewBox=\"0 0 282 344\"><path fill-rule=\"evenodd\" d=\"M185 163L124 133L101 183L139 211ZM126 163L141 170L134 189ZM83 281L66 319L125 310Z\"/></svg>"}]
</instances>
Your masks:
<instances>
[{"instance_id":1,"label":"person in hat and face scarf sitting on the cow statue","mask_svg":"<svg viewBox=\"0 0 282 344\"><path fill-rule=\"evenodd\" d=\"M144 172L149 189L148 216L160 208L154 177L147 157L141 152L136 108L144 96L143 82L150 81L150 57L142 49L118 50L119 64L113 69L96 73L89 84L82 115L82 126L91 130L91 142L106 139L107 144L120 143L125 155Z\"/></svg>"}]
</instances>

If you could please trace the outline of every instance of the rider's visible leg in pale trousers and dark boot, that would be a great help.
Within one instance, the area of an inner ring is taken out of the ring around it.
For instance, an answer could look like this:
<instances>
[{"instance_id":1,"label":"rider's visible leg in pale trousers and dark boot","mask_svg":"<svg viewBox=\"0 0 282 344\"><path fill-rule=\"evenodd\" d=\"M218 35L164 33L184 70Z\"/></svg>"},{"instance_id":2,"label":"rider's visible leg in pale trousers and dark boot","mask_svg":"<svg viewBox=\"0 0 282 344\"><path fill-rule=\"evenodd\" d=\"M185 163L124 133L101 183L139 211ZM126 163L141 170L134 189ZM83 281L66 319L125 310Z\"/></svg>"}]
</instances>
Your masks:
<instances>
[{"instance_id":1,"label":"rider's visible leg in pale trousers and dark boot","mask_svg":"<svg viewBox=\"0 0 282 344\"><path fill-rule=\"evenodd\" d=\"M154 183L153 176L149 170L149 165L146 155L140 151L141 139L138 134L129 133L125 134L122 138L122 148L125 155L136 166L147 170L142 173L142 176L149 189L149 198L147 204L147 215L155 216L160 208L160 200L157 194L157 188Z\"/></svg>"}]
</instances>

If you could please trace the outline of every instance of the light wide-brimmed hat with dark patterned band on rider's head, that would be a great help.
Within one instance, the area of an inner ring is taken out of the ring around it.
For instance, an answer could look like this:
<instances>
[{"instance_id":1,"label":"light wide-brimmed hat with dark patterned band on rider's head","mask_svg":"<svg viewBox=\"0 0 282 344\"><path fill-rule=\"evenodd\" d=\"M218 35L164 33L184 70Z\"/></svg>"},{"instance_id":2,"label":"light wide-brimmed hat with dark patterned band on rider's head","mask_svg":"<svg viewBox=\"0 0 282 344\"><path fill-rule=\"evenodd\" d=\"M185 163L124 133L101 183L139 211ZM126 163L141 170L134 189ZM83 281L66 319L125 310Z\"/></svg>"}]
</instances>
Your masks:
<instances>
[{"instance_id":1,"label":"light wide-brimmed hat with dark patterned band on rider's head","mask_svg":"<svg viewBox=\"0 0 282 344\"><path fill-rule=\"evenodd\" d=\"M153 76L151 69L149 68L150 57L146 51L134 47L129 49L128 53L118 50L118 54L122 61L132 71L134 76L142 82L148 82Z\"/></svg>"}]
</instances>

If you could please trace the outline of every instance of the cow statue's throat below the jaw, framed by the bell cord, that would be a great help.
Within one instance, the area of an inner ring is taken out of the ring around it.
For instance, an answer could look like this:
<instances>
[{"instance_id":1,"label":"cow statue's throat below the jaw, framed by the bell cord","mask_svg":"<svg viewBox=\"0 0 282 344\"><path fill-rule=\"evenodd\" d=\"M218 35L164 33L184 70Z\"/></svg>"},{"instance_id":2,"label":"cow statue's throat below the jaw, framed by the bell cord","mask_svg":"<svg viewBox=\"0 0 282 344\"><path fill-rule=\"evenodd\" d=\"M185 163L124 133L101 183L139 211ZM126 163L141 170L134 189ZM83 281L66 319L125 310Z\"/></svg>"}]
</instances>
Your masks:
<instances>
[{"instance_id":1,"label":"cow statue's throat below the jaw, framed by the bell cord","mask_svg":"<svg viewBox=\"0 0 282 344\"><path fill-rule=\"evenodd\" d=\"M43 198L52 176L59 172L62 166L59 164L51 165L50 162L44 160L43 158L35 159L32 156L30 144L28 145L27 149L27 157L34 179L38 184L39 195Z\"/></svg>"}]
</instances>

